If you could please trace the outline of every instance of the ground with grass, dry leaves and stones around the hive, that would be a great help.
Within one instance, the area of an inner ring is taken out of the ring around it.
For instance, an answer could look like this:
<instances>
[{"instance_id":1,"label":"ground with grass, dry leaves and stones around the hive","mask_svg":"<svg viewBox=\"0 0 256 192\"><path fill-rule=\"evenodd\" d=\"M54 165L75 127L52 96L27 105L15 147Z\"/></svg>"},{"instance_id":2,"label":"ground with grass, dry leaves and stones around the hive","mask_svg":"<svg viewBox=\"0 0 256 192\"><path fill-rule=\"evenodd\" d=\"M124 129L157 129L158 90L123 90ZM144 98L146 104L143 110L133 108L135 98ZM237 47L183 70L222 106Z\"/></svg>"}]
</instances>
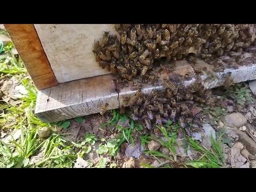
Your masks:
<instances>
[{"instance_id":1,"label":"ground with grass, dry leaves and stones around the hive","mask_svg":"<svg viewBox=\"0 0 256 192\"><path fill-rule=\"evenodd\" d=\"M183 139L177 138L177 126L171 122L160 141L151 132L144 135L140 124L118 110L103 118L93 114L44 124L33 115L36 90L31 78L2 28L0 167L256 168L256 80L235 84L228 91L213 89L212 97L228 96L235 105L193 108L203 127ZM30 145L26 155L16 148L20 144L27 149L30 142L36 147Z\"/></svg>"}]
</instances>

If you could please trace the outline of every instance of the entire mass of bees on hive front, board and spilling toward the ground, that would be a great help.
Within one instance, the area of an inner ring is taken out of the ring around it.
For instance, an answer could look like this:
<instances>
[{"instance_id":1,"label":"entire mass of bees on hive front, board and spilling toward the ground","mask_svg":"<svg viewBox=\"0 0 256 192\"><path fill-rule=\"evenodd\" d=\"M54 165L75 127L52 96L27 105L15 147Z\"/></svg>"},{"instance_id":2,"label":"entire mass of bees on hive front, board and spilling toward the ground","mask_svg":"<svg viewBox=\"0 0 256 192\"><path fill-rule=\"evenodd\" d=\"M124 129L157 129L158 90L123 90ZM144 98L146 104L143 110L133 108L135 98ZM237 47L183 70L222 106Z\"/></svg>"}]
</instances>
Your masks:
<instances>
[{"instance_id":1,"label":"entire mass of bees on hive front, board and spilling toward the ground","mask_svg":"<svg viewBox=\"0 0 256 192\"><path fill-rule=\"evenodd\" d=\"M240 64L256 62L256 57L244 58L243 54L244 51L256 53L253 24L116 24L115 28L120 41L117 36L104 32L103 38L93 47L96 62L114 74L120 88L128 86L128 80L133 79L131 89L136 90L136 95L123 98L120 112L124 113L125 106L130 106L131 117L142 122L144 134L153 130L157 138L161 132L156 125L162 126L168 120L180 122L180 127L188 134L191 131L188 123L201 128L200 117L193 114L191 108L216 104L202 85L198 74L202 68L194 68L195 82L185 89L188 74L180 76L179 82L172 82L167 77L161 79L166 69L160 65L159 70L155 70L160 64L157 60L162 57L167 61L188 59L196 65L198 57L213 65L215 72L223 71L224 67L239 68ZM168 70L175 69L170 66ZM232 84L230 75L228 73L225 78L226 86ZM156 86L160 79L162 90L142 94L145 83ZM218 103L222 108L234 105L231 100ZM178 130L179 138L183 137L182 133L182 129Z\"/></svg>"}]
</instances>

